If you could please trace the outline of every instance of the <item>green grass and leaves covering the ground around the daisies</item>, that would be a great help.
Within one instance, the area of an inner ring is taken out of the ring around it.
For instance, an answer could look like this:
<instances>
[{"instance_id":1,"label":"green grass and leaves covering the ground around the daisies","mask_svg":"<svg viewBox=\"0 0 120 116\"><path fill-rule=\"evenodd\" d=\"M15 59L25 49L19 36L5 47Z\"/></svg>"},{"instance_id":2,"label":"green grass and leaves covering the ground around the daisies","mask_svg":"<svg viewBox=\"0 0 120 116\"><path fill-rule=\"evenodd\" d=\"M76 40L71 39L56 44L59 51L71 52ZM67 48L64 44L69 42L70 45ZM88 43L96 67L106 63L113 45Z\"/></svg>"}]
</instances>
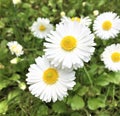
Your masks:
<instances>
[{"instance_id":1,"label":"green grass and leaves covering the ground around the daisies","mask_svg":"<svg viewBox=\"0 0 120 116\"><path fill-rule=\"evenodd\" d=\"M32 23L38 17L47 17L55 26L62 11L70 17L90 16L94 20L94 10L113 11L120 16L120 0L22 0L15 6L12 0L0 0L0 115L120 116L120 73L104 69L100 60L107 45L120 43L120 35L106 41L95 38L97 46L91 61L76 71L77 84L63 101L44 103L31 95L27 85L25 90L21 88L30 64L44 54L44 40L32 35ZM25 52L17 64L10 63L15 56L6 45L12 40L18 41Z\"/></svg>"}]
</instances>

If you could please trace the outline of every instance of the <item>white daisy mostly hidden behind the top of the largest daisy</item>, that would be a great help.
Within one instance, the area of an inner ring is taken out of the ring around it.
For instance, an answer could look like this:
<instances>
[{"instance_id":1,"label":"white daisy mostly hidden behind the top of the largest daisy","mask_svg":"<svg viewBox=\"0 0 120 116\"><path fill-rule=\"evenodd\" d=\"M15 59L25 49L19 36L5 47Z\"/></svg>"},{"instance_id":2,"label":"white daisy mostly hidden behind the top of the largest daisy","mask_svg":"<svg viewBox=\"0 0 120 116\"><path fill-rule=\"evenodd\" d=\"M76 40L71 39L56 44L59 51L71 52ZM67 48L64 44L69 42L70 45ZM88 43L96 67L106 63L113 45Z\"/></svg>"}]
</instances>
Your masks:
<instances>
[{"instance_id":1,"label":"white daisy mostly hidden behind the top of the largest daisy","mask_svg":"<svg viewBox=\"0 0 120 116\"><path fill-rule=\"evenodd\" d=\"M61 18L61 22L60 23L66 23L66 22L78 22L80 24L83 24L85 26L90 26L90 24L92 23L91 19L87 16L87 17L66 17L66 16L63 16Z\"/></svg>"}]
</instances>

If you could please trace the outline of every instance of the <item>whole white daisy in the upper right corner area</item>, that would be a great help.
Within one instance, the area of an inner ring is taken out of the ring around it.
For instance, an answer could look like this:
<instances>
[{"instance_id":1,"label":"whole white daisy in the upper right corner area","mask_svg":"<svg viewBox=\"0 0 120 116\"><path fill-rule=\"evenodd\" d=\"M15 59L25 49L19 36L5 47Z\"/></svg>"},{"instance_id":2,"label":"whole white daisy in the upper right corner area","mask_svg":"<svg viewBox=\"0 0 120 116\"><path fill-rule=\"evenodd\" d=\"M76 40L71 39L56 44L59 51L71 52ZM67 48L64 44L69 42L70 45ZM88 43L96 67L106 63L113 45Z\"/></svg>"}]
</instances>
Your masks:
<instances>
[{"instance_id":1,"label":"whole white daisy in the upper right corner area","mask_svg":"<svg viewBox=\"0 0 120 116\"><path fill-rule=\"evenodd\" d=\"M94 21L93 30L101 39L115 38L120 32L120 18L116 13L102 13Z\"/></svg>"}]
</instances>

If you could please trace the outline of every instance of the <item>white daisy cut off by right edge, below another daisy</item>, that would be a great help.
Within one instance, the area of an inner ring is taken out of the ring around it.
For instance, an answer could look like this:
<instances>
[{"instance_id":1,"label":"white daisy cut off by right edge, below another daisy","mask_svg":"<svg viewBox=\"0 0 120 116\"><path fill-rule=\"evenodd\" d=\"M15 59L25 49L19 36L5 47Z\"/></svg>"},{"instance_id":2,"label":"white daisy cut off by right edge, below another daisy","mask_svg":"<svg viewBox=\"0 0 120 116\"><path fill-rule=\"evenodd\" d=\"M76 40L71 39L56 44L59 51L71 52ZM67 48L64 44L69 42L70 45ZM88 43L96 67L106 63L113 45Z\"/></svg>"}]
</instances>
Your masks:
<instances>
[{"instance_id":1,"label":"white daisy cut off by right edge, below another daisy","mask_svg":"<svg viewBox=\"0 0 120 116\"><path fill-rule=\"evenodd\" d=\"M120 71L120 44L107 46L101 55L105 67L111 71Z\"/></svg>"}]
</instances>

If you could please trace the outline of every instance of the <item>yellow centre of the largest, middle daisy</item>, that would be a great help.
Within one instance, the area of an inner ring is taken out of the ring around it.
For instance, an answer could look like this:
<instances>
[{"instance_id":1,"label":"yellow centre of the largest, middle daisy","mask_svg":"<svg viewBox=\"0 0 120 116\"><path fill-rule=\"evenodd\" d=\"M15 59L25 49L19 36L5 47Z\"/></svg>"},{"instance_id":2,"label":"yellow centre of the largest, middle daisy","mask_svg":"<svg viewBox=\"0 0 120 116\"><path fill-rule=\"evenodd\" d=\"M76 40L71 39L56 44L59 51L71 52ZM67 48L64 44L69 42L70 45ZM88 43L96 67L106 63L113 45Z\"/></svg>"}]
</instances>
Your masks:
<instances>
[{"instance_id":1,"label":"yellow centre of the largest, middle daisy","mask_svg":"<svg viewBox=\"0 0 120 116\"><path fill-rule=\"evenodd\" d=\"M65 36L60 45L66 51L71 51L76 47L77 41L73 36Z\"/></svg>"}]
</instances>

